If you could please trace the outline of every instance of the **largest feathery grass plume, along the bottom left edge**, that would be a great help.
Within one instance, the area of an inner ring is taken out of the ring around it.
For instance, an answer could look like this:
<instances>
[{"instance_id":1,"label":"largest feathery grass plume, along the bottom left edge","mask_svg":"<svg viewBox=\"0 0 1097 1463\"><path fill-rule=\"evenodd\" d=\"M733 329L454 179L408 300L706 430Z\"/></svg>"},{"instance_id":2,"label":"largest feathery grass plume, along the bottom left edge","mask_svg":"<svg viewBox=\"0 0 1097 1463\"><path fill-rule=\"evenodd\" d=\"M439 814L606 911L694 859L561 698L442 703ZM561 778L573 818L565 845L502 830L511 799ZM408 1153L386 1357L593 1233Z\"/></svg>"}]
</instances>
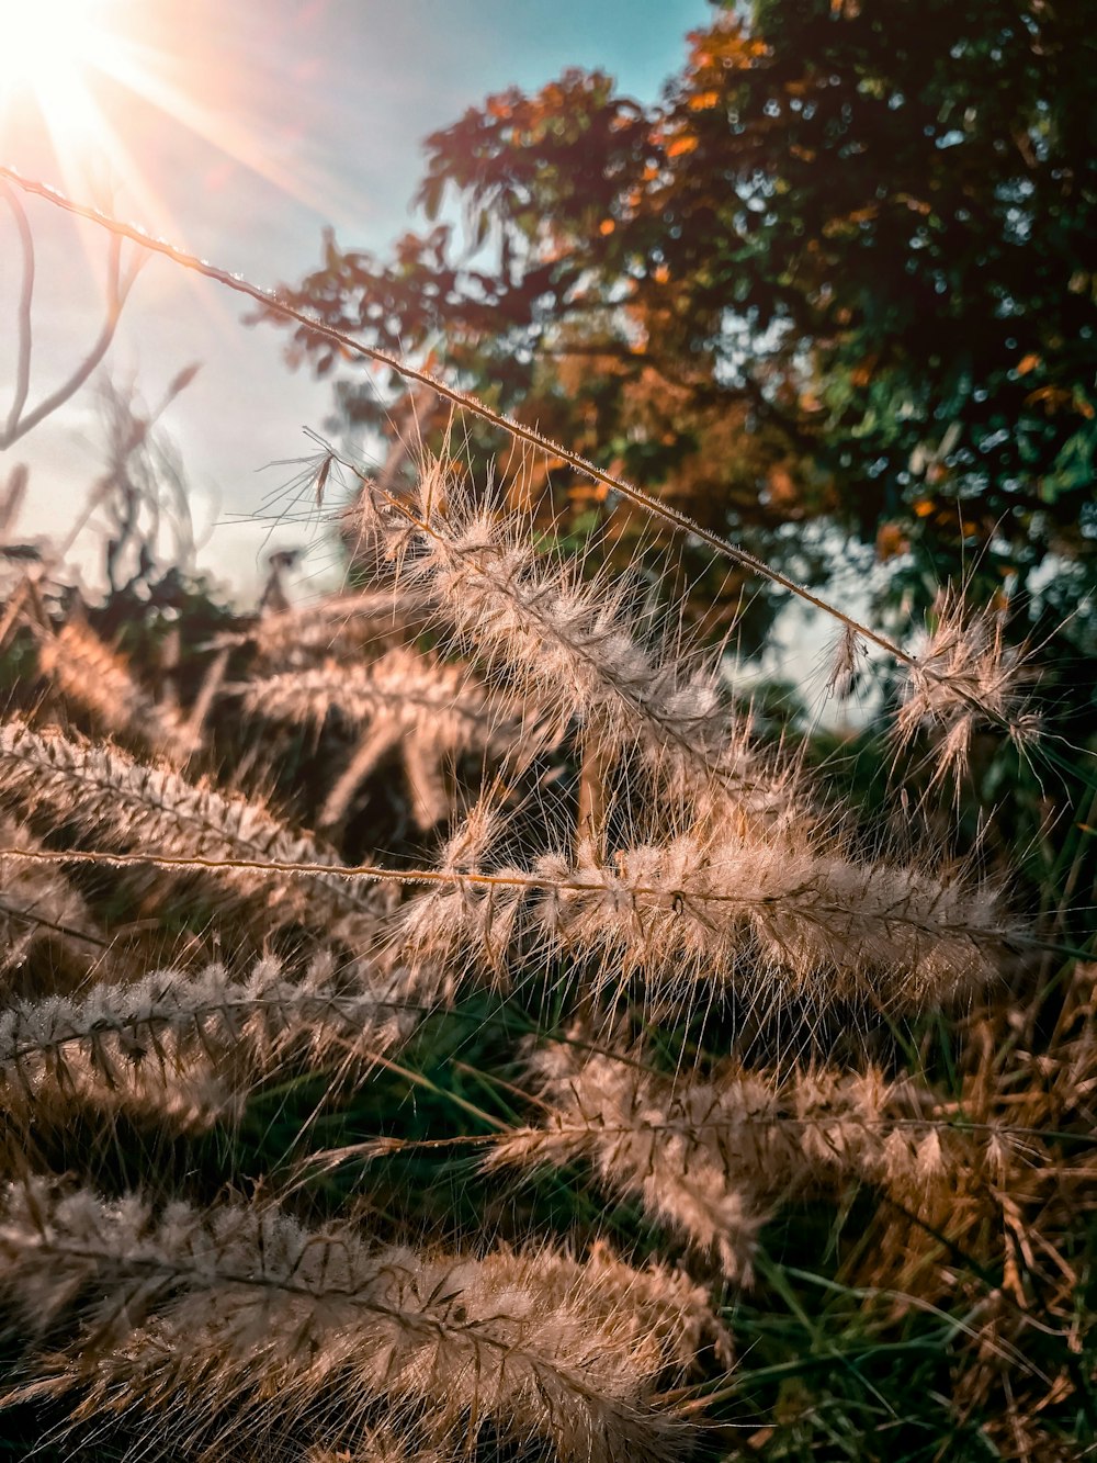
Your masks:
<instances>
[{"instance_id":1,"label":"largest feathery grass plume, along the bottom left edge","mask_svg":"<svg viewBox=\"0 0 1097 1463\"><path fill-rule=\"evenodd\" d=\"M404 1419L427 1444L472 1447L493 1428L576 1463L685 1457L690 1428L658 1391L679 1369L674 1327L638 1336L619 1276L560 1286L551 1267L550 1251L377 1246L274 1206L155 1213L140 1195L34 1178L0 1201L0 1289L28 1374L50 1336L45 1375L22 1394L76 1391L78 1415L136 1415L143 1451L173 1457L216 1456L225 1425L235 1450L271 1457L316 1441L317 1422L326 1445L353 1447Z\"/></svg>"}]
</instances>

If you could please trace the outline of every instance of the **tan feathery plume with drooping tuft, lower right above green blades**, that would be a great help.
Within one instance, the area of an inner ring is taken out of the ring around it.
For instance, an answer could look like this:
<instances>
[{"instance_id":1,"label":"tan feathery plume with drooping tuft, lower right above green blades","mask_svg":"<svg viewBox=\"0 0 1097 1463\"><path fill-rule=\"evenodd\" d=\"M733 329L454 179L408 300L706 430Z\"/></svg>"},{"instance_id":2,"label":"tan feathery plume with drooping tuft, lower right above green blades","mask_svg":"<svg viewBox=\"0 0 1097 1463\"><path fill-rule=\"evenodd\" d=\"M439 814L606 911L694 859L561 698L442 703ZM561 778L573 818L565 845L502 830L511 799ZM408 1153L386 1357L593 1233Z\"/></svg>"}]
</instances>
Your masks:
<instances>
[{"instance_id":1,"label":"tan feathery plume with drooping tuft, lower right above green blades","mask_svg":"<svg viewBox=\"0 0 1097 1463\"><path fill-rule=\"evenodd\" d=\"M917 1201L946 1176L927 1096L876 1068L671 1078L645 1069L639 1053L579 1056L566 1043L531 1065L550 1110L540 1127L503 1135L486 1165L585 1159L604 1188L636 1197L742 1285L785 1194L857 1178Z\"/></svg>"}]
</instances>

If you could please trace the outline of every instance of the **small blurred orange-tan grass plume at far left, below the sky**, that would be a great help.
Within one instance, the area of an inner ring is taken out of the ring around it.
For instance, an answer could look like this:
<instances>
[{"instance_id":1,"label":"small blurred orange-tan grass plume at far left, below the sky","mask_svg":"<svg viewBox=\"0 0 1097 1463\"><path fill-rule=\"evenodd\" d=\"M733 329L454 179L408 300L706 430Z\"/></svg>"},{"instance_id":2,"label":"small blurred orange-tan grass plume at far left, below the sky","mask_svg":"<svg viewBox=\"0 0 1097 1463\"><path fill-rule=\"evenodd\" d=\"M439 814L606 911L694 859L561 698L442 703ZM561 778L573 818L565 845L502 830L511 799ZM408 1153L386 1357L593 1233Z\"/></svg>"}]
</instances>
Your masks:
<instances>
[{"instance_id":1,"label":"small blurred orange-tan grass plume at far left, below the sky","mask_svg":"<svg viewBox=\"0 0 1097 1463\"><path fill-rule=\"evenodd\" d=\"M61 696L83 707L105 732L137 737L178 762L186 762L195 751L178 714L157 705L121 655L104 645L83 619L70 617L56 635L42 638L38 669Z\"/></svg>"}]
</instances>

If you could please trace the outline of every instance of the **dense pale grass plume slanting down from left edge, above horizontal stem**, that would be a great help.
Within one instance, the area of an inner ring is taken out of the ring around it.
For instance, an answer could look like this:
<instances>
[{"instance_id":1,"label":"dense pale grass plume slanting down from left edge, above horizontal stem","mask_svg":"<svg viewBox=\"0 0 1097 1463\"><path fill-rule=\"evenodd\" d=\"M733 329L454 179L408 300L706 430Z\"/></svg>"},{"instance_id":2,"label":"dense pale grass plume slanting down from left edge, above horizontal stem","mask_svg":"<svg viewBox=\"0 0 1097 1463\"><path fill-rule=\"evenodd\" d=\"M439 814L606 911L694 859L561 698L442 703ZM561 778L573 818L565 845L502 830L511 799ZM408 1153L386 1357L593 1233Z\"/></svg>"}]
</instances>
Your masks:
<instances>
[{"instance_id":1,"label":"dense pale grass plume slanting down from left edge, above horizontal stem","mask_svg":"<svg viewBox=\"0 0 1097 1463\"><path fill-rule=\"evenodd\" d=\"M196 873L222 892L262 901L276 920L326 923L328 933L358 951L373 939L376 891L363 895L351 881L325 875L339 866L338 856L257 800L190 783L114 746L32 732L19 720L0 727L0 794L32 816L75 824L113 849L203 860ZM316 872L278 875L234 868L234 859L304 863Z\"/></svg>"}]
</instances>

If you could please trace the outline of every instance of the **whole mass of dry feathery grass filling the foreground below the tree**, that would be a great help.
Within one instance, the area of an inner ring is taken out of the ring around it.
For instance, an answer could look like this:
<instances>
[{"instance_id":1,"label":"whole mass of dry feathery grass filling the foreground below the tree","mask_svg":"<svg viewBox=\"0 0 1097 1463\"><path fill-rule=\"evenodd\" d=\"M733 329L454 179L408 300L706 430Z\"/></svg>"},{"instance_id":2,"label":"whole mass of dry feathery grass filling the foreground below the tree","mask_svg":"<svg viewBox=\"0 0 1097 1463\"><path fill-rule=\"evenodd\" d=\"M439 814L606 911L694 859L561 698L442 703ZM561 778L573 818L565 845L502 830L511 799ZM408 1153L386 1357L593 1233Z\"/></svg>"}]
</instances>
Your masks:
<instances>
[{"instance_id":1,"label":"whole mass of dry feathery grass filling the foreground below the tree","mask_svg":"<svg viewBox=\"0 0 1097 1463\"><path fill-rule=\"evenodd\" d=\"M3 515L0 1456L1079 1456L1084 835L961 827L1038 657L954 595L826 759L456 454L316 473L255 614Z\"/></svg>"}]
</instances>

